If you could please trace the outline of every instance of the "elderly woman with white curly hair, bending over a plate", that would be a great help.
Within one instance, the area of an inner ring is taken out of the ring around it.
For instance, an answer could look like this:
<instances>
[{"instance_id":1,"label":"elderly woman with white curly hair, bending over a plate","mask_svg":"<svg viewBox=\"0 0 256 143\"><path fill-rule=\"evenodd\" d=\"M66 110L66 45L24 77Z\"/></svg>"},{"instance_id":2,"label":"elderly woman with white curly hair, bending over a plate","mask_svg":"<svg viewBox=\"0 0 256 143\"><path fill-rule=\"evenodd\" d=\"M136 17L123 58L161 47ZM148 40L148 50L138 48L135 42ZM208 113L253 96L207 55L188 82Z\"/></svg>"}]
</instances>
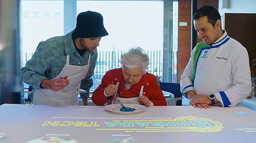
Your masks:
<instances>
[{"instance_id":1,"label":"elderly woman with white curly hair, bending over a plate","mask_svg":"<svg viewBox=\"0 0 256 143\"><path fill-rule=\"evenodd\" d=\"M147 72L148 55L139 47L121 55L122 68L106 72L101 84L92 94L96 105L122 103L149 106L166 106L166 100L156 76ZM116 97L117 96L117 97Z\"/></svg>"}]
</instances>

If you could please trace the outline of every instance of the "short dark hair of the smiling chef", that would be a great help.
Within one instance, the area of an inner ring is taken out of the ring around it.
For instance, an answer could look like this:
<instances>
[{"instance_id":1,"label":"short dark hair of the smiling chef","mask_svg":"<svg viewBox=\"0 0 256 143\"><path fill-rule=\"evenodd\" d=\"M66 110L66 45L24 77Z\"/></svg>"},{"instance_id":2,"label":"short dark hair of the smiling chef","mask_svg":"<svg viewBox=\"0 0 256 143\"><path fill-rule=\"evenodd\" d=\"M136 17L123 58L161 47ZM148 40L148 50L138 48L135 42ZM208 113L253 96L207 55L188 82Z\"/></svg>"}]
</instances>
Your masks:
<instances>
[{"instance_id":1,"label":"short dark hair of the smiling chef","mask_svg":"<svg viewBox=\"0 0 256 143\"><path fill-rule=\"evenodd\" d=\"M218 19L221 20L220 13L216 8L211 5L205 5L196 11L195 15L193 16L193 21L205 16L207 16L208 23L210 23L212 26L215 25Z\"/></svg>"}]
</instances>

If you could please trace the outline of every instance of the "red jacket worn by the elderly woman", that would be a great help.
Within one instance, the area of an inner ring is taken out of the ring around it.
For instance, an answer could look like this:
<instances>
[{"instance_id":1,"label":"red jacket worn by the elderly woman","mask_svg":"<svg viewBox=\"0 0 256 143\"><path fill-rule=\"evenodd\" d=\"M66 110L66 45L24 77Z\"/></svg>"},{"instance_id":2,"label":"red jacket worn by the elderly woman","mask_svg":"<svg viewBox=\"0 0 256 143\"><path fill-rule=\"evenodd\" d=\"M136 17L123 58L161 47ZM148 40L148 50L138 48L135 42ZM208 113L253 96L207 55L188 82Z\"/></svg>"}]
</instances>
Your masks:
<instances>
[{"instance_id":1,"label":"red jacket worn by the elderly woman","mask_svg":"<svg viewBox=\"0 0 256 143\"><path fill-rule=\"evenodd\" d=\"M105 95L104 95L105 88L108 87L109 84L112 84L112 82L115 85L117 82L120 82L118 91L117 91L120 98L133 98L133 97L122 96L122 95L133 95L133 96L135 95L139 97L141 86L144 85L143 95L145 95L154 104L154 106L167 105L164 94L160 89L156 81L156 76L154 74L150 74L150 73L143 74L141 80L138 83L132 85L130 90L125 90L124 89L125 83L124 83L122 68L112 69L106 72L106 74L103 76L101 80L101 84L92 93L92 102L94 104L102 106L109 100L110 100L110 103L112 102L114 96L109 96L107 99L105 99Z\"/></svg>"}]
</instances>

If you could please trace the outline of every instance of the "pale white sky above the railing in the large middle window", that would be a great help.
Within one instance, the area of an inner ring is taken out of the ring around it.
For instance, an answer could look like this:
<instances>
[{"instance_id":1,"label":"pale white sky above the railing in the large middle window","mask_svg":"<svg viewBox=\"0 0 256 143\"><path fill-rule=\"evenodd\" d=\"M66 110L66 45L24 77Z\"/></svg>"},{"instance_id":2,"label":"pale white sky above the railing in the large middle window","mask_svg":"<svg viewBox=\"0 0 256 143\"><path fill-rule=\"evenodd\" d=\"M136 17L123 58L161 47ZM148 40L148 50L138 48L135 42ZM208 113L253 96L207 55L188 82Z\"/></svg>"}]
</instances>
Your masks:
<instances>
[{"instance_id":1,"label":"pale white sky above the railing in the large middle window","mask_svg":"<svg viewBox=\"0 0 256 143\"><path fill-rule=\"evenodd\" d=\"M77 14L88 10L102 14L109 33L102 38L99 50L102 46L109 50L113 46L115 50L163 47L162 1L77 1Z\"/></svg>"}]
</instances>

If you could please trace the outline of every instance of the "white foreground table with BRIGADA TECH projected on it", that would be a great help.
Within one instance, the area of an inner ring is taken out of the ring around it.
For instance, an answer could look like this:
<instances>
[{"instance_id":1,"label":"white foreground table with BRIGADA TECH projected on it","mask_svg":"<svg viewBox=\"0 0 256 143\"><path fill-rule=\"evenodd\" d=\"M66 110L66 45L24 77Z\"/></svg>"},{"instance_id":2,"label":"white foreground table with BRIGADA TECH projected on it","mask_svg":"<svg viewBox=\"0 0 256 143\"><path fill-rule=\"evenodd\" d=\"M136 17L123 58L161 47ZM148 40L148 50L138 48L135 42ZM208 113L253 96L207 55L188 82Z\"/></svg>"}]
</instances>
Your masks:
<instances>
[{"instance_id":1,"label":"white foreground table with BRIGADA TECH projected on it","mask_svg":"<svg viewBox=\"0 0 256 143\"><path fill-rule=\"evenodd\" d=\"M11 143L44 137L72 139L65 143L256 142L256 112L241 105L155 106L116 114L103 106L3 104L0 112L0 135Z\"/></svg>"}]
</instances>

